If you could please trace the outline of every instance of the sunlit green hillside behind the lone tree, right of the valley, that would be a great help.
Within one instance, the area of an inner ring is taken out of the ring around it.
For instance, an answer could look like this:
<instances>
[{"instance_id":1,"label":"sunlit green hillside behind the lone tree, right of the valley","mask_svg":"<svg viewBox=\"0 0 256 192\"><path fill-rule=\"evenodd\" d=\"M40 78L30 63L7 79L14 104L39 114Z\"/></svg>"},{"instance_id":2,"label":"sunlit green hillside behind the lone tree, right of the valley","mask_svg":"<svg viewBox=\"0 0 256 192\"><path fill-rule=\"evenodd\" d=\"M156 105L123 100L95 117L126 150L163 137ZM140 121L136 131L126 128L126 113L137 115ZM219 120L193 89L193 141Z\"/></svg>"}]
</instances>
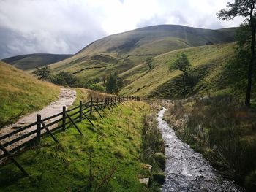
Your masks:
<instances>
[{"instance_id":1,"label":"sunlit green hillside behind the lone tree, right of the valley","mask_svg":"<svg viewBox=\"0 0 256 192\"><path fill-rule=\"evenodd\" d=\"M121 74L124 77L129 76L127 79L131 82L121 93L162 98L176 98L179 96L178 94L181 93L181 72L169 72L169 64L181 52L187 54L192 68L199 72L202 77L195 88L197 92L214 93L225 89L227 87L219 82L222 78L225 62L233 55L233 47L234 43L207 45L158 55L154 58L155 68L150 72L146 67L143 70L141 65ZM138 72L139 69L140 72Z\"/></svg>"}]
</instances>

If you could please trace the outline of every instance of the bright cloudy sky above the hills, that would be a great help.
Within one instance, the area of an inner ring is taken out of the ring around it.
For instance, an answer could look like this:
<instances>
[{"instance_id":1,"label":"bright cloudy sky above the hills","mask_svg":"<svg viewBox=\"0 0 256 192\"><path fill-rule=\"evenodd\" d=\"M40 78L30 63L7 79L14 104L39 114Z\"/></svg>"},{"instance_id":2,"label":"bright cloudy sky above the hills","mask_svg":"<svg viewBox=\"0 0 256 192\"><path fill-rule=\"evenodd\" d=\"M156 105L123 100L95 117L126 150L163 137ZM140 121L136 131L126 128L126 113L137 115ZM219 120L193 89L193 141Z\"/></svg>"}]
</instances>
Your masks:
<instances>
[{"instance_id":1,"label":"bright cloudy sky above the hills","mask_svg":"<svg viewBox=\"0 0 256 192\"><path fill-rule=\"evenodd\" d=\"M216 13L233 0L0 0L0 59L74 54L97 39L144 26L239 26Z\"/></svg>"}]
</instances>

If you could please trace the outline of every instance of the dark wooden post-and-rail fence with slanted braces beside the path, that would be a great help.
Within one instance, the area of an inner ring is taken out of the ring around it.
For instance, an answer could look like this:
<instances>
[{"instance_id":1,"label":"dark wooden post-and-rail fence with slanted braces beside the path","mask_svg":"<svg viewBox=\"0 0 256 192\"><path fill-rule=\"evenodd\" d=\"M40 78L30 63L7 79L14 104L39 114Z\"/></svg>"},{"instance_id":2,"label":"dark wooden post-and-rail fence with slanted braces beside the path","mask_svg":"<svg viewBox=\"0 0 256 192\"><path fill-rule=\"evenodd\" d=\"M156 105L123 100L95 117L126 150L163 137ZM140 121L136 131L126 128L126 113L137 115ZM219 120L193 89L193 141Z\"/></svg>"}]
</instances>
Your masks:
<instances>
[{"instance_id":1,"label":"dark wooden post-and-rail fence with slanted braces beside the path","mask_svg":"<svg viewBox=\"0 0 256 192\"><path fill-rule=\"evenodd\" d=\"M106 113L106 110L111 112L113 107L116 107L117 104L122 104L124 101L129 100L140 101L140 97L119 96L108 97L105 99L97 98L96 100L91 98L90 101L84 103L80 101L80 104L77 107L72 107L71 109L66 109L64 106L62 112L48 118L42 119L41 115L38 114L37 121L34 123L18 128L17 130L0 137L0 149L2 150L2 153L0 150L0 164L10 158L23 174L29 176L23 167L15 161L15 158L12 155L13 153L28 147L31 144L39 145L41 138L45 135L50 135L50 137L58 143L59 141L54 136L54 133L56 131L65 131L65 129L69 128L71 125L75 126L79 134L83 135L76 123L82 120L88 120L89 123L91 123L91 126L94 126L94 123L90 120L92 112L97 112L102 118L102 112Z\"/></svg>"}]
</instances>

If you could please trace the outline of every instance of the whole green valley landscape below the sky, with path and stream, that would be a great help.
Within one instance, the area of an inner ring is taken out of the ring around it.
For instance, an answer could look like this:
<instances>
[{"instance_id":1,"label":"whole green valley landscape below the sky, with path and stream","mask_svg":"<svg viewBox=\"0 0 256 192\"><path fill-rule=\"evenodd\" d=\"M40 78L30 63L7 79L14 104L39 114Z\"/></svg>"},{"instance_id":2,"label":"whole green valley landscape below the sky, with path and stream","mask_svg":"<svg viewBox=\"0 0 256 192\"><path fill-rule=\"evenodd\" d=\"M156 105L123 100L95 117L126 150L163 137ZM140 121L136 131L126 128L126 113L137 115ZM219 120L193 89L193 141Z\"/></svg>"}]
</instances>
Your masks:
<instances>
[{"instance_id":1,"label":"whole green valley landscape below the sky, with path and stream","mask_svg":"<svg viewBox=\"0 0 256 192\"><path fill-rule=\"evenodd\" d=\"M0 191L253 191L256 84L247 109L246 77L236 81L231 73L237 29L148 26L98 39L74 55L2 60L0 143L38 113L59 114L48 123L62 129L52 136L39 122L47 136L38 142L34 132L35 142L13 154L30 177L10 156L0 165ZM171 69L181 55L188 66ZM184 85L189 74L196 80ZM239 168L243 161L248 169Z\"/></svg>"}]
</instances>

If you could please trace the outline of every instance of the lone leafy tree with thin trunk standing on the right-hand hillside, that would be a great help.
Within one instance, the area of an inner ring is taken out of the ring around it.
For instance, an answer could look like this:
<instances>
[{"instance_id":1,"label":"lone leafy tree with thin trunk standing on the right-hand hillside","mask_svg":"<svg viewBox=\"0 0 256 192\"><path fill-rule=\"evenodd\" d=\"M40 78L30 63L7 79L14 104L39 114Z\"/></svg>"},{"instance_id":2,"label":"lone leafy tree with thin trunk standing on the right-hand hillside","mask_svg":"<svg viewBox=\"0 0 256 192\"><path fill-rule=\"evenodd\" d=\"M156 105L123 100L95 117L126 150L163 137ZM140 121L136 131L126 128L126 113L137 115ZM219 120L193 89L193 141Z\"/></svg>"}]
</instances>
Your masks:
<instances>
[{"instance_id":1,"label":"lone leafy tree with thin trunk standing on the right-hand hillside","mask_svg":"<svg viewBox=\"0 0 256 192\"><path fill-rule=\"evenodd\" d=\"M172 72L173 70L180 70L182 72L182 83L184 92L186 91L186 72L190 68L190 66L191 64L189 63L187 55L185 53L181 53L180 55L177 55L176 60L172 64L170 64L169 67L170 72Z\"/></svg>"}]
</instances>

